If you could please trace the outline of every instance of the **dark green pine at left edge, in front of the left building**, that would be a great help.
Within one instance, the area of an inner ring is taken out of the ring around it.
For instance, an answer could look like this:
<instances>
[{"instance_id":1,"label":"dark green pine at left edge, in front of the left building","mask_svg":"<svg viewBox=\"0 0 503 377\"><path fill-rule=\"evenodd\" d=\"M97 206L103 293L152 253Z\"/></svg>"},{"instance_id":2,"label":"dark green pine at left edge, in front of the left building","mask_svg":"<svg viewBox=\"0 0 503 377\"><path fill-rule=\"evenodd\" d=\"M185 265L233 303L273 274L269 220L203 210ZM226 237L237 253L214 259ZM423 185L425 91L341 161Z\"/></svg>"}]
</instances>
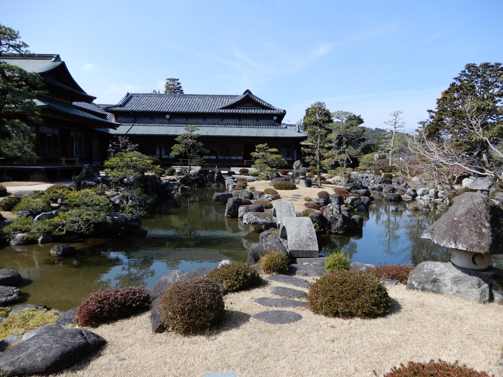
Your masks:
<instances>
[{"instance_id":1,"label":"dark green pine at left edge, in front of the left building","mask_svg":"<svg viewBox=\"0 0 503 377\"><path fill-rule=\"evenodd\" d=\"M28 45L19 38L18 31L0 25L0 59L9 54L33 56ZM33 143L29 140L35 138L35 134L24 120L43 123L39 109L30 100L41 92L42 86L42 77L38 73L0 61L0 127L10 134L9 138L0 140L2 157L12 158L17 163L37 160Z\"/></svg>"}]
</instances>

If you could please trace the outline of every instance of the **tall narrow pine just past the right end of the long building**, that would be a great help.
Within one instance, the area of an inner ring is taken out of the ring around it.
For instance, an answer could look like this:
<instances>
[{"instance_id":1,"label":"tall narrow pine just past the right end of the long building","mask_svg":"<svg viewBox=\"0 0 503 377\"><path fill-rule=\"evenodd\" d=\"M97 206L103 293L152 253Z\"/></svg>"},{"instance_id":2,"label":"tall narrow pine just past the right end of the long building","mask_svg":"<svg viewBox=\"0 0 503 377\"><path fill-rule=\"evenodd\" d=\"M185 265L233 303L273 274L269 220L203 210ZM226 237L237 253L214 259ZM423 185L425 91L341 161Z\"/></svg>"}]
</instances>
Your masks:
<instances>
[{"instance_id":1,"label":"tall narrow pine just past the right end of the long building","mask_svg":"<svg viewBox=\"0 0 503 377\"><path fill-rule=\"evenodd\" d=\"M322 159L331 146L328 135L332 123L332 115L324 102L315 102L306 109L302 126L304 131L309 133L306 141L314 145L303 147L302 151L310 167L314 167L318 172L318 182L321 182L321 170L325 167Z\"/></svg>"}]
</instances>

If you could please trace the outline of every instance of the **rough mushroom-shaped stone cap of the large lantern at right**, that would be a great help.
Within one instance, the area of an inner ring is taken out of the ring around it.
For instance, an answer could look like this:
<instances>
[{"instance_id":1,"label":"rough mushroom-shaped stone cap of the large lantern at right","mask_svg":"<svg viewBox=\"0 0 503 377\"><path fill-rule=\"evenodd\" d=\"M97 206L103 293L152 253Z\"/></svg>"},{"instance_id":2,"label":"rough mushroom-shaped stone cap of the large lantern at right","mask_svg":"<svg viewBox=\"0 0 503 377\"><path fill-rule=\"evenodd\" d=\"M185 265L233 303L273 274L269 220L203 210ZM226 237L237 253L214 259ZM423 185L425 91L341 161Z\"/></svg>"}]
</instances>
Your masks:
<instances>
[{"instance_id":1,"label":"rough mushroom-shaped stone cap of the large lantern at right","mask_svg":"<svg viewBox=\"0 0 503 377\"><path fill-rule=\"evenodd\" d=\"M421 237L458 250L503 254L503 210L483 194L464 193Z\"/></svg>"}]
</instances>

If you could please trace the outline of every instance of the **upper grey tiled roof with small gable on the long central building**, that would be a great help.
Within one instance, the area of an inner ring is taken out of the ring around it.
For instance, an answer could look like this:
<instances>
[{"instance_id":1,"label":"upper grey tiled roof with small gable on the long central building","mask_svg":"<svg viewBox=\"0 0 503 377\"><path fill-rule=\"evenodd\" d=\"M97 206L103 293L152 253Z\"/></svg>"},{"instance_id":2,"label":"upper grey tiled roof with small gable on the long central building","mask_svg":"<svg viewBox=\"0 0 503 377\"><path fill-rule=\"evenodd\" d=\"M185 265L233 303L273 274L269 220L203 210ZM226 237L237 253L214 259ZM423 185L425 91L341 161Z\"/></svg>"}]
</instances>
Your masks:
<instances>
[{"instance_id":1,"label":"upper grey tiled roof with small gable on the long central building","mask_svg":"<svg viewBox=\"0 0 503 377\"><path fill-rule=\"evenodd\" d=\"M248 97L257 106L238 106ZM233 106L236 105L236 106ZM163 113L240 113L240 114L284 114L279 109L246 90L243 95L190 95L178 93L127 93L117 105L107 111L145 111Z\"/></svg>"}]
</instances>

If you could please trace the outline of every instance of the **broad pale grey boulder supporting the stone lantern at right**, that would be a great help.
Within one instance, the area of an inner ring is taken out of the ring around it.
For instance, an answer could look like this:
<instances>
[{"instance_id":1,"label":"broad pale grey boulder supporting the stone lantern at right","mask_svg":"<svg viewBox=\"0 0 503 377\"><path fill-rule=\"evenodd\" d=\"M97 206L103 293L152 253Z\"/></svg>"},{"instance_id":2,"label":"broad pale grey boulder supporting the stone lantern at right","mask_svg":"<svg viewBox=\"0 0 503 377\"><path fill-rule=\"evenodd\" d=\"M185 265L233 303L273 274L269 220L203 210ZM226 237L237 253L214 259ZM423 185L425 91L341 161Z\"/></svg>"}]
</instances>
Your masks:
<instances>
[{"instance_id":1,"label":"broad pale grey boulder supporting the stone lantern at right","mask_svg":"<svg viewBox=\"0 0 503 377\"><path fill-rule=\"evenodd\" d=\"M445 215L444 215L445 216ZM451 262L426 261L410 271L407 288L457 296L479 303L503 304L503 270L474 270Z\"/></svg>"}]
</instances>

